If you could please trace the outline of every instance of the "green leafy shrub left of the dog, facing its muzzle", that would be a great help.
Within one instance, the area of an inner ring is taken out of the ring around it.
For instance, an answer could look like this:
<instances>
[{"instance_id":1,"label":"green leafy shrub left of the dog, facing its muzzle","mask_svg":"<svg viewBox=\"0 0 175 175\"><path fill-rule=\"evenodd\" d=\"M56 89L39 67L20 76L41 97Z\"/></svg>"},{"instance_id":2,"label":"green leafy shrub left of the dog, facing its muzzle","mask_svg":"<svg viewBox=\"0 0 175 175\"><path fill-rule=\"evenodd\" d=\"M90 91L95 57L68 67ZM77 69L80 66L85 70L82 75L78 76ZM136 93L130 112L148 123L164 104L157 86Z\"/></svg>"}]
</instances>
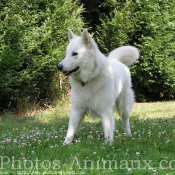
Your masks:
<instances>
[{"instance_id":1,"label":"green leafy shrub left of the dog, facing its muzzle","mask_svg":"<svg viewBox=\"0 0 175 175\"><path fill-rule=\"evenodd\" d=\"M71 0L6 0L0 9L1 110L51 100L67 29L83 26L82 6Z\"/></svg>"}]
</instances>

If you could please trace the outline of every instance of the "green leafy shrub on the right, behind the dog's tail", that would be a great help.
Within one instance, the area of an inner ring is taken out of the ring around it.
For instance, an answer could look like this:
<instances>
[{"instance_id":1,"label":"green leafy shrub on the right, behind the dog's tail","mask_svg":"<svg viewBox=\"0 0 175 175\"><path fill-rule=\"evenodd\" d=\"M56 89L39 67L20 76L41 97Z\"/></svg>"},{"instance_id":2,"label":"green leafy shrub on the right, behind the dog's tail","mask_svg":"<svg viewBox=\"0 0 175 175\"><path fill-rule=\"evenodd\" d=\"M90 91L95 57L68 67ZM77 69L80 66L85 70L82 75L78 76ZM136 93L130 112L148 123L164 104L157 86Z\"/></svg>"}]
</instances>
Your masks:
<instances>
[{"instance_id":1,"label":"green leafy shrub on the right, behind the dog's tail","mask_svg":"<svg viewBox=\"0 0 175 175\"><path fill-rule=\"evenodd\" d=\"M175 99L175 1L126 1L97 26L96 39L106 54L135 45L140 59L131 67L137 101Z\"/></svg>"}]
</instances>

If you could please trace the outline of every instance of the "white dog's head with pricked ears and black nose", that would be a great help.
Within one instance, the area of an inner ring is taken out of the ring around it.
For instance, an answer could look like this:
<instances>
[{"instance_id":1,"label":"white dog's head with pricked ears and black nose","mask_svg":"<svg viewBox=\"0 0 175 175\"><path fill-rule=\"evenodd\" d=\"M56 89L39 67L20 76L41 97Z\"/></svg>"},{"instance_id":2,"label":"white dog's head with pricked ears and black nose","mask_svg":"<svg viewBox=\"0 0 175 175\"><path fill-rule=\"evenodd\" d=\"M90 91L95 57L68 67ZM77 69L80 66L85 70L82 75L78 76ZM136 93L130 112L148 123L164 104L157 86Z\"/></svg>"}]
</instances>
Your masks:
<instances>
[{"instance_id":1,"label":"white dog's head with pricked ears and black nose","mask_svg":"<svg viewBox=\"0 0 175 175\"><path fill-rule=\"evenodd\" d=\"M57 66L66 76L92 67L92 65L88 65L92 63L90 59L93 58L93 48L95 47L93 39L87 30L84 30L81 36L76 36L71 30L68 30L68 38L69 44L66 49L66 57Z\"/></svg>"}]
</instances>

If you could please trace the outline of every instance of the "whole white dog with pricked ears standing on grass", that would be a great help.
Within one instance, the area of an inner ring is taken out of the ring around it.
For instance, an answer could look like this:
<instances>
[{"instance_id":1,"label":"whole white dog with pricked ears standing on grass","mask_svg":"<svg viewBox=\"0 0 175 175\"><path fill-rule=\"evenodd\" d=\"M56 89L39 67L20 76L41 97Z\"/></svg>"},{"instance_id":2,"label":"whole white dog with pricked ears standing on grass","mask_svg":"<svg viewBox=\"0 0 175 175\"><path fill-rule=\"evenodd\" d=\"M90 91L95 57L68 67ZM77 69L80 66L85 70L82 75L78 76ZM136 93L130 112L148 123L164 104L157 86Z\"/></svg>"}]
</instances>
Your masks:
<instances>
[{"instance_id":1,"label":"whole white dog with pricked ears standing on grass","mask_svg":"<svg viewBox=\"0 0 175 175\"><path fill-rule=\"evenodd\" d=\"M86 112L102 120L104 136L113 142L115 131L114 106L122 117L124 130L131 136L129 116L134 104L131 76L127 66L138 58L135 47L123 46L108 57L98 49L87 30L76 36L68 30L66 57L58 69L69 76L72 108L69 128L63 145L70 144L81 127Z\"/></svg>"}]
</instances>

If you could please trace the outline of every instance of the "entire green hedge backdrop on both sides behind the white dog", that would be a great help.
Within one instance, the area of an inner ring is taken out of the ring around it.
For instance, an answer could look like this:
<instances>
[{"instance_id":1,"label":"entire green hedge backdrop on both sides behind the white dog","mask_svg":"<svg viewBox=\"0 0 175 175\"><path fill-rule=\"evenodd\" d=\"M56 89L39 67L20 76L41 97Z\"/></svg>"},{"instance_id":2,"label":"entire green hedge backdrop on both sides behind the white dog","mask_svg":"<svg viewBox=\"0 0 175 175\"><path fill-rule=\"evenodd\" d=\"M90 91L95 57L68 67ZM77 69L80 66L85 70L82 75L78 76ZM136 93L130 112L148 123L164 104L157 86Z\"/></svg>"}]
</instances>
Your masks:
<instances>
[{"instance_id":1,"label":"entire green hedge backdrop on both sides behind the white dog","mask_svg":"<svg viewBox=\"0 0 175 175\"><path fill-rule=\"evenodd\" d=\"M85 25L106 55L122 45L140 49L131 67L137 101L174 100L175 1L80 1L0 1L0 110L65 96L56 66L67 29L81 34Z\"/></svg>"}]
</instances>

